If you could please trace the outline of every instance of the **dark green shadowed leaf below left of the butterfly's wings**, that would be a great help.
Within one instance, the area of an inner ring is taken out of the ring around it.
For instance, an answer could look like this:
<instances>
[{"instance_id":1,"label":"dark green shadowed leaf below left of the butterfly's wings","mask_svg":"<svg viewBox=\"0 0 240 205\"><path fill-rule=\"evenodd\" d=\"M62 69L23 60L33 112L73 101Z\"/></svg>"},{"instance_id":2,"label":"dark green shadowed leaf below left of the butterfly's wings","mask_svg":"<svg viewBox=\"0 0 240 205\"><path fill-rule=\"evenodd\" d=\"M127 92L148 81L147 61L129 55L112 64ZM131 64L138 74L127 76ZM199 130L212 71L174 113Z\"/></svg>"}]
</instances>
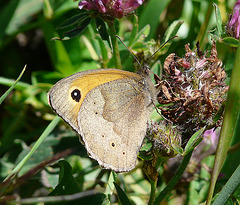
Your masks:
<instances>
[{"instance_id":1,"label":"dark green shadowed leaf below left of the butterfly's wings","mask_svg":"<svg viewBox=\"0 0 240 205\"><path fill-rule=\"evenodd\" d=\"M60 166L59 184L49 195L59 196L80 192L80 187L72 175L72 167L70 164L65 160L61 160L58 163Z\"/></svg>"}]
</instances>

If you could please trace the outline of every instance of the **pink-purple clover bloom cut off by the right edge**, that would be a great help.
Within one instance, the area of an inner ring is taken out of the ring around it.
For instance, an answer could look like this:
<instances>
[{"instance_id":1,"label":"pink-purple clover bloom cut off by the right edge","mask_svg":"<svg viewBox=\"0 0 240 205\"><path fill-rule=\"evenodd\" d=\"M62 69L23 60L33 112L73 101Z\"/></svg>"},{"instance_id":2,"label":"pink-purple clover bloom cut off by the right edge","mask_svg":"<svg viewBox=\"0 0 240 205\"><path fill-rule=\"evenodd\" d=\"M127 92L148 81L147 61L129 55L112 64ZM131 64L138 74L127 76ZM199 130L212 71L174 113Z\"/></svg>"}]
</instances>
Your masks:
<instances>
[{"instance_id":1,"label":"pink-purple clover bloom cut off by the right edge","mask_svg":"<svg viewBox=\"0 0 240 205\"><path fill-rule=\"evenodd\" d=\"M227 32L239 39L239 32L240 32L240 0L238 0L234 7L233 7L233 13L229 15L228 23L227 23Z\"/></svg>"}]
</instances>

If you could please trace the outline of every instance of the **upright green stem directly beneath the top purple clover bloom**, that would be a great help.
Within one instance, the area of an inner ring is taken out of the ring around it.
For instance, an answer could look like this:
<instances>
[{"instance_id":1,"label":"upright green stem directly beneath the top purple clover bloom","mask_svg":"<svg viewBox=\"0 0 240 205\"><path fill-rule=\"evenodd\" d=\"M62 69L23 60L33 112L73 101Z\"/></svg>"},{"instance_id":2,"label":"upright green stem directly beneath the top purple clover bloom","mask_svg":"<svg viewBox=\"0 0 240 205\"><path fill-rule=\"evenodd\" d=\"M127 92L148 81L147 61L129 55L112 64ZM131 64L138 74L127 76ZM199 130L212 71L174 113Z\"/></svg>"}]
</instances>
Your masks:
<instances>
[{"instance_id":1,"label":"upright green stem directly beneath the top purple clover bloom","mask_svg":"<svg viewBox=\"0 0 240 205\"><path fill-rule=\"evenodd\" d=\"M109 27L110 37L111 37L111 41L112 41L113 58L115 61L115 66L117 69L122 69L114 22L112 22L112 21L108 22L108 27Z\"/></svg>"}]
</instances>

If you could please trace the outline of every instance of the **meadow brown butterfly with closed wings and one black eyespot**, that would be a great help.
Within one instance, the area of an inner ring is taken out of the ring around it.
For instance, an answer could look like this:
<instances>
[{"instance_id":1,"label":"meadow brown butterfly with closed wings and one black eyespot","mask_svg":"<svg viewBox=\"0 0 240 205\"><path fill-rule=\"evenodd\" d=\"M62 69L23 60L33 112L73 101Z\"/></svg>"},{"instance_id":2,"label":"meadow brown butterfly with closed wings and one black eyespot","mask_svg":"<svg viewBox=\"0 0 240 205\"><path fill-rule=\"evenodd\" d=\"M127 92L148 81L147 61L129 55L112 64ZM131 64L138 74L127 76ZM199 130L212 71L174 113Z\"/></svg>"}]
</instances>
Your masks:
<instances>
[{"instance_id":1,"label":"meadow brown butterfly with closed wings and one black eyespot","mask_svg":"<svg viewBox=\"0 0 240 205\"><path fill-rule=\"evenodd\" d=\"M57 82L48 100L103 168L124 172L136 166L156 100L148 72L79 72Z\"/></svg>"}]
</instances>

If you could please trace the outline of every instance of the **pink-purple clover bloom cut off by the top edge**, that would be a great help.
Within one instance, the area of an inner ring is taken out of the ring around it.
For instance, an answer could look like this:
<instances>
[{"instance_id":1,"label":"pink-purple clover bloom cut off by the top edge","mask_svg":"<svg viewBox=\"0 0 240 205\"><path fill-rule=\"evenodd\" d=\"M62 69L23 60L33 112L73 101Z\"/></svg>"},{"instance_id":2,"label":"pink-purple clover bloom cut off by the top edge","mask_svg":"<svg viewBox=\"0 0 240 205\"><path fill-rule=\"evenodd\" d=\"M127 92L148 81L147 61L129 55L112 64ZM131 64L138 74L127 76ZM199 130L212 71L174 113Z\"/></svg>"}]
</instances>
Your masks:
<instances>
[{"instance_id":1,"label":"pink-purple clover bloom cut off by the top edge","mask_svg":"<svg viewBox=\"0 0 240 205\"><path fill-rule=\"evenodd\" d=\"M79 2L79 9L95 10L111 18L122 18L134 11L144 0L84 0Z\"/></svg>"}]
</instances>

